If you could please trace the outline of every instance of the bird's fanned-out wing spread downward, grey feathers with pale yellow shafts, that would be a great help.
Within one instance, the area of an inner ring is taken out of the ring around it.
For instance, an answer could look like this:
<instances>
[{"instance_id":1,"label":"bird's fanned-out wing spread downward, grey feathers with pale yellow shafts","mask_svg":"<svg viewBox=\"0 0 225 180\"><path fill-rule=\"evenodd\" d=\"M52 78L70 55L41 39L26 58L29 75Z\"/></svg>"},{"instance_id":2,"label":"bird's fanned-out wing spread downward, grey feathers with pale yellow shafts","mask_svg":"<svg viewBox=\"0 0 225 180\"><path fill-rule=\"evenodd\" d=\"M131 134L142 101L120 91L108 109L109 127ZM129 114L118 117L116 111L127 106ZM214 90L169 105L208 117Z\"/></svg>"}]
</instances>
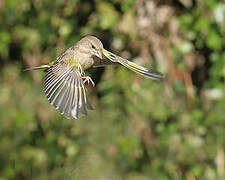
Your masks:
<instances>
[{"instance_id":1,"label":"bird's fanned-out wing spread downward, grey feathers with pale yellow shafts","mask_svg":"<svg viewBox=\"0 0 225 180\"><path fill-rule=\"evenodd\" d=\"M71 115L78 118L79 111L87 115L86 108L93 109L76 66L57 62L49 67L46 70L44 92L49 102L67 118Z\"/></svg>"}]
</instances>

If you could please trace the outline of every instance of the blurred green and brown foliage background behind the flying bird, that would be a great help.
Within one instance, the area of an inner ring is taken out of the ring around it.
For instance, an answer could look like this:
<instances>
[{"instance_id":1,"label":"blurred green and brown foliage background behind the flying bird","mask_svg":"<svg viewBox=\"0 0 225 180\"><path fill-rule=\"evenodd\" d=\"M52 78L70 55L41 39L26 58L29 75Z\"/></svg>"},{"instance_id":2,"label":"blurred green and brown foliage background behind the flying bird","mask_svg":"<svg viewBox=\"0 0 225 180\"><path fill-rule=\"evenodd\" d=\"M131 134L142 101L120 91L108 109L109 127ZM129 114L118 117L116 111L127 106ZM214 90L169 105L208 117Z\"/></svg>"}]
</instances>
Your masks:
<instances>
[{"instance_id":1,"label":"blurred green and brown foliage background behind the flying bird","mask_svg":"<svg viewBox=\"0 0 225 180\"><path fill-rule=\"evenodd\" d=\"M166 75L91 69L95 107L45 98L50 62L87 34ZM1 0L0 180L225 179L223 0Z\"/></svg>"}]
</instances>

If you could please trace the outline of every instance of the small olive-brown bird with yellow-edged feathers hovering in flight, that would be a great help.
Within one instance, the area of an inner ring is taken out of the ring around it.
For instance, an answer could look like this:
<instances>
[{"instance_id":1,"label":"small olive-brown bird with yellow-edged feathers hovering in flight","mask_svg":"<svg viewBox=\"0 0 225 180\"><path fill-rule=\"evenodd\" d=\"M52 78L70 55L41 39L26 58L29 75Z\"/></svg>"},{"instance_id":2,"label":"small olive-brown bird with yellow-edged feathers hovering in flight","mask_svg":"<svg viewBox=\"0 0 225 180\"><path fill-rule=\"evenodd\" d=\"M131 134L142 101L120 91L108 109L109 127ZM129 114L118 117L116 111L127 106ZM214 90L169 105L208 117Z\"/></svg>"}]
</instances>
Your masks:
<instances>
[{"instance_id":1,"label":"small olive-brown bird with yellow-edged feathers hovering in flight","mask_svg":"<svg viewBox=\"0 0 225 180\"><path fill-rule=\"evenodd\" d=\"M108 64L121 64L130 70L153 80L164 75L152 69L137 65L103 48L102 42L94 36L86 36L67 49L56 61L28 70L44 69L44 92L48 101L67 118L87 115L93 110L87 96L85 83L95 85L84 70Z\"/></svg>"}]
</instances>

